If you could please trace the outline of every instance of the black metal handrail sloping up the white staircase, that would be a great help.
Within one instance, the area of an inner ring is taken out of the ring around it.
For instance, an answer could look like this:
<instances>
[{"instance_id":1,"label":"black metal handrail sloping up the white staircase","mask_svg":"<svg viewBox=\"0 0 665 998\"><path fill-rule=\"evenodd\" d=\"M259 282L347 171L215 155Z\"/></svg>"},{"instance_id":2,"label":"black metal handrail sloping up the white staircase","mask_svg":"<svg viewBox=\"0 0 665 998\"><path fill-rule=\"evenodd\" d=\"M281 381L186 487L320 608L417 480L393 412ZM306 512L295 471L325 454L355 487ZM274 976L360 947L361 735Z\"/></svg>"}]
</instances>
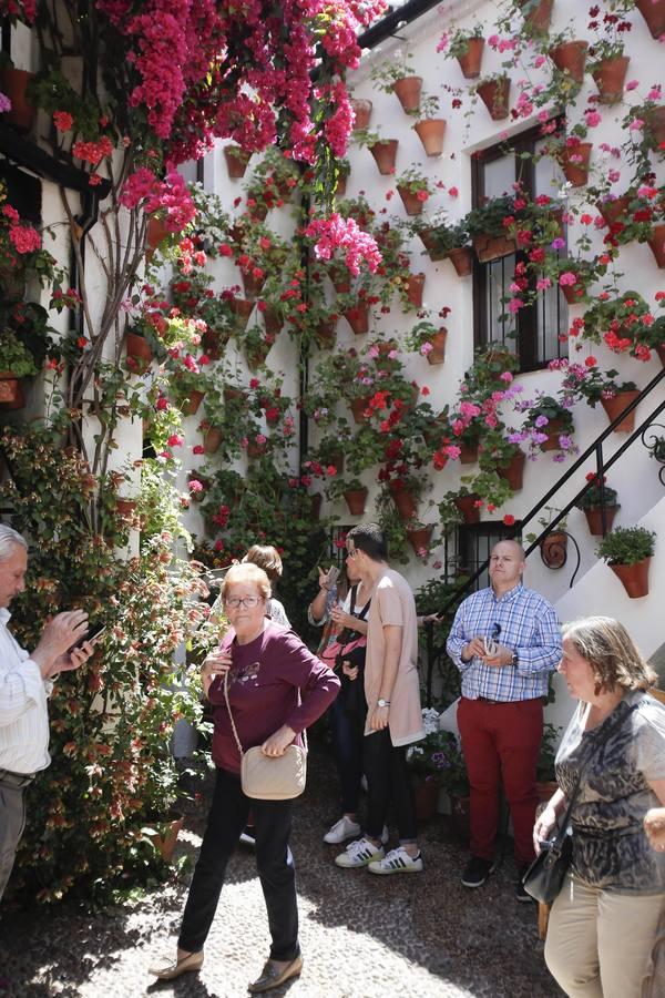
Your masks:
<instances>
[{"instance_id":1,"label":"black metal handrail sloping up the white staircase","mask_svg":"<svg viewBox=\"0 0 665 998\"><path fill-rule=\"evenodd\" d=\"M601 522L602 522L603 536L606 533L607 520L606 520L606 505L605 505L605 500L604 500L604 482L603 482L605 471L608 468L612 468L613 465L615 465L616 461L622 457L624 451L627 450L627 448L638 437L641 437L644 432L646 432L646 429L648 428L648 426L665 409L665 400L659 403L656 406L656 408L651 413L651 415L637 427L637 429L633 430L628 435L628 437L622 444L622 446L618 447L617 450L612 455L612 457L608 458L606 461L603 458L603 442L607 439L607 437L610 437L614 432L615 428L621 422L623 422L623 420L626 418L626 416L630 416L630 414L633 413L637 408L637 406L642 401L644 401L644 399L647 398L655 388L657 388L657 386L663 381L664 378L665 378L665 368L663 368L663 370L659 370L658 374L654 378L652 378L652 380L648 383L648 385L646 385L642 389L640 395L637 395L636 398L634 398L633 401L630 403L625 407L625 409L623 409L618 414L616 419L614 419L614 421L611 422L610 426L606 427L606 429L604 429L603 432L596 437L596 439L593 441L593 444L591 444L586 448L586 450L577 458L577 460L573 465L571 465L571 467L565 472L565 475L562 475L561 478L559 478L556 480L556 482L552 486L552 488L549 489L548 492L545 492L545 495L539 500L539 502L536 502L536 505L534 507L532 507L532 509L529 510L526 516L523 517L522 519L515 521L514 529L512 531L513 534L521 533L522 530L524 529L524 527L529 522L531 522L531 520L533 520L533 518L535 516L538 516L538 513L541 512L541 510L545 506L548 506L548 503L550 502L552 497L555 496L556 492L560 491L560 489L566 483L566 481L569 481L569 479L571 479L572 476L576 471L580 470L580 468L585 464L585 461L589 460L589 458L592 455L595 455L596 480L587 481L584 485L584 487L582 489L580 489L577 495L573 499L571 499L571 501L559 512L559 515L548 523L548 526L541 531L541 533L538 534L538 537L535 538L533 543L531 543L529 546L529 548L526 548L526 550L525 550L526 557L529 557L531 554L531 552L540 546L540 542L542 541L542 539L544 537L548 536L548 533L552 533L553 531L555 531L556 525L560 523L561 520L563 520L567 516L567 513L573 509L573 507L575 507L577 505L577 502L582 499L582 497L587 491L590 491L590 489L592 489L594 486L598 488L600 493L601 493L600 506L601 506ZM478 580L480 579L480 577L483 574L483 572L487 571L489 563L490 563L490 560L488 558L482 562L482 564L477 569L477 571L472 576L470 576L468 579L466 579L466 581L462 582L454 590L452 595L446 601L446 603L439 611L439 614L438 614L439 617L444 618L448 614L449 610L453 605L456 605L456 603L459 603L460 599L466 593L469 593L473 590L473 588L474 588L475 583L478 582ZM428 651L428 672L427 672L426 690L427 690L427 702L428 702L428 705L430 705L431 704L431 692L432 692L433 658L434 658L434 653L436 653L434 641L433 641L433 624L432 623L429 623L426 625L426 632L427 632L427 651Z\"/></svg>"}]
</instances>

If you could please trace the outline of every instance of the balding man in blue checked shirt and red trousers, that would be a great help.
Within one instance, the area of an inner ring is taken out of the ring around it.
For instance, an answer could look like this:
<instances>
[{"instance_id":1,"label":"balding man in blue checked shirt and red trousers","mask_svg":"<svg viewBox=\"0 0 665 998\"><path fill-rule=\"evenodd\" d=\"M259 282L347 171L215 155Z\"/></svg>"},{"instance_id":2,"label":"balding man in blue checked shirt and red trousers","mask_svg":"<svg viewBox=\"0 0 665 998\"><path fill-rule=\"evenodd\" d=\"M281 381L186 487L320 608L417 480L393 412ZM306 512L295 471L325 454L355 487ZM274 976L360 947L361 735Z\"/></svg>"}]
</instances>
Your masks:
<instances>
[{"instance_id":1,"label":"balding man in blue checked shirt and red trousers","mask_svg":"<svg viewBox=\"0 0 665 998\"><path fill-rule=\"evenodd\" d=\"M462 884L480 887L492 872L502 782L520 873L516 897L529 902L521 875L534 858L543 699L562 648L554 608L522 585L523 571L521 544L501 541L493 548L491 585L461 603L447 649L462 676L458 725L471 785L471 859Z\"/></svg>"}]
</instances>

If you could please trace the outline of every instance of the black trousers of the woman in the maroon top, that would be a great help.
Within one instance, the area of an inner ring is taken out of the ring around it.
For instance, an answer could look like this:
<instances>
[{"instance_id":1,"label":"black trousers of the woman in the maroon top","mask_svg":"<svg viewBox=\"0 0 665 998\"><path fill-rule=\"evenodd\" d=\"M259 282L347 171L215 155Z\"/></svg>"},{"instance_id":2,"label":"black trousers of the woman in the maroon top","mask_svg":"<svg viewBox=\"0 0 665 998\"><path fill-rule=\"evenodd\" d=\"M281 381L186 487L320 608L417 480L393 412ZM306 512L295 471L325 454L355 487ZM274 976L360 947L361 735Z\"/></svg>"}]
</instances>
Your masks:
<instances>
[{"instance_id":1,"label":"black trousers of the woman in the maroon top","mask_svg":"<svg viewBox=\"0 0 665 998\"><path fill-rule=\"evenodd\" d=\"M270 958L293 960L298 956L296 869L288 847L291 807L291 801L249 800L242 791L238 776L217 770L207 827L183 915L178 938L181 949L192 953L203 949L217 909L226 866L252 808L256 868L273 939Z\"/></svg>"}]
</instances>

